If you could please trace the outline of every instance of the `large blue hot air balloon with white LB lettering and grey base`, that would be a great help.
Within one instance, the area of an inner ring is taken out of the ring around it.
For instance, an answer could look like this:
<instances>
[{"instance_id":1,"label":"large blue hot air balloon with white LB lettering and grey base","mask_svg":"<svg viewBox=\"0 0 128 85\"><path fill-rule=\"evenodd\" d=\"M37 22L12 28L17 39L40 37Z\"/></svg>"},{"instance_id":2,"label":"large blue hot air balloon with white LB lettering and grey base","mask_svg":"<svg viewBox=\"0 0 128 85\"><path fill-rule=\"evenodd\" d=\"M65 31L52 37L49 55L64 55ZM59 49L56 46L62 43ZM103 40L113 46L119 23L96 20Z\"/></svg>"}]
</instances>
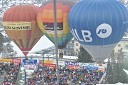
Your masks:
<instances>
[{"instance_id":1,"label":"large blue hot air balloon with white LB lettering and grey base","mask_svg":"<svg viewBox=\"0 0 128 85\"><path fill-rule=\"evenodd\" d=\"M116 0L82 0L68 16L74 37L95 60L109 57L128 25L127 9Z\"/></svg>"}]
</instances>

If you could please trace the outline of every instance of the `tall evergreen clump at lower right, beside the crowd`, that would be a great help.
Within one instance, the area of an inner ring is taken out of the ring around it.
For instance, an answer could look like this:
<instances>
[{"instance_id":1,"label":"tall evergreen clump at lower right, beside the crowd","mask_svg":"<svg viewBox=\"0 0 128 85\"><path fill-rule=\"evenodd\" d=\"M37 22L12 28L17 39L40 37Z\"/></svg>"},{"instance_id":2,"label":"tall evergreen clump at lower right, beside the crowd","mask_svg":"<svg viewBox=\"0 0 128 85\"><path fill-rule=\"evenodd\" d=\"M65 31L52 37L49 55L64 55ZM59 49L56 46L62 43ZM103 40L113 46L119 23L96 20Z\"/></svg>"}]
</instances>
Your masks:
<instances>
[{"instance_id":1,"label":"tall evergreen clump at lower right, beside the crowd","mask_svg":"<svg viewBox=\"0 0 128 85\"><path fill-rule=\"evenodd\" d=\"M118 82L121 83L128 83L128 75L123 71L125 65L127 65L127 61L123 60L123 52L120 51L118 55L117 62L115 62L115 56L113 55L114 52L111 54L111 61L108 62L107 68L107 82L109 84L115 84Z\"/></svg>"}]
</instances>

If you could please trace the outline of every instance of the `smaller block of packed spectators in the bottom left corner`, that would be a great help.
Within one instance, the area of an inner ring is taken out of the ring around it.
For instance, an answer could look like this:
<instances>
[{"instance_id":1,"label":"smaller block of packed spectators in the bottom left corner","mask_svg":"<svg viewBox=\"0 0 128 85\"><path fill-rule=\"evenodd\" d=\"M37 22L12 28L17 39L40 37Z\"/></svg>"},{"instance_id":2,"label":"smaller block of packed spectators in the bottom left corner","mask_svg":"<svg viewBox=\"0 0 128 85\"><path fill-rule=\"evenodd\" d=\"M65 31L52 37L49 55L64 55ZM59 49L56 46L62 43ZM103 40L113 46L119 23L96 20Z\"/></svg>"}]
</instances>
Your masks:
<instances>
[{"instance_id":1,"label":"smaller block of packed spectators in the bottom left corner","mask_svg":"<svg viewBox=\"0 0 128 85\"><path fill-rule=\"evenodd\" d=\"M16 85L19 69L20 65L14 63L3 64L2 70L5 72L3 85Z\"/></svg>"}]
</instances>

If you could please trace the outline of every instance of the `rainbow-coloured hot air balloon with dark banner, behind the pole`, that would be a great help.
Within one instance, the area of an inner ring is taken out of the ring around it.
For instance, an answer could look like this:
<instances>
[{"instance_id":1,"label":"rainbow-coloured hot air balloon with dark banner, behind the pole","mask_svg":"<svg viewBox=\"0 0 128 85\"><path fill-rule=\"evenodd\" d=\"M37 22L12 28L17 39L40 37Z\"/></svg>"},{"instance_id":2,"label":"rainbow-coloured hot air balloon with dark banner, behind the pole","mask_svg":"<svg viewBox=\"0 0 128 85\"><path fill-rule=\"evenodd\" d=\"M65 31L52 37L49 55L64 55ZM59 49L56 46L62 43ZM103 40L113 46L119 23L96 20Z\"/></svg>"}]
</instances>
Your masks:
<instances>
[{"instance_id":1,"label":"rainbow-coloured hot air balloon with dark banner, behind the pole","mask_svg":"<svg viewBox=\"0 0 128 85\"><path fill-rule=\"evenodd\" d=\"M64 48L67 43L72 39L72 34L68 27L68 13L70 11L70 4L68 0L57 0L56 14L57 14L57 36L58 48ZM44 3L40 8L37 15L37 22L46 37L55 43L54 32L54 11L53 0Z\"/></svg>"}]
</instances>

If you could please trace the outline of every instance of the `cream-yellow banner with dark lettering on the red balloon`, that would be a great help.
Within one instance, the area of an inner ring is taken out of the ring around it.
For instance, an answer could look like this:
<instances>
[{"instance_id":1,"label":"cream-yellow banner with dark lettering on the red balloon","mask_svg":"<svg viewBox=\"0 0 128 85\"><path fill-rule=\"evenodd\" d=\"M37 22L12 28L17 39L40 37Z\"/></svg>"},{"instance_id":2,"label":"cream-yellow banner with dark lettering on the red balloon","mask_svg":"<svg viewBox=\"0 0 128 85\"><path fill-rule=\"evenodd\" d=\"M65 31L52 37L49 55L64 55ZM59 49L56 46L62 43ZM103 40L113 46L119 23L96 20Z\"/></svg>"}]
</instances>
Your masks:
<instances>
[{"instance_id":1,"label":"cream-yellow banner with dark lettering on the red balloon","mask_svg":"<svg viewBox=\"0 0 128 85\"><path fill-rule=\"evenodd\" d=\"M3 22L5 30L31 30L31 22Z\"/></svg>"}]
</instances>

